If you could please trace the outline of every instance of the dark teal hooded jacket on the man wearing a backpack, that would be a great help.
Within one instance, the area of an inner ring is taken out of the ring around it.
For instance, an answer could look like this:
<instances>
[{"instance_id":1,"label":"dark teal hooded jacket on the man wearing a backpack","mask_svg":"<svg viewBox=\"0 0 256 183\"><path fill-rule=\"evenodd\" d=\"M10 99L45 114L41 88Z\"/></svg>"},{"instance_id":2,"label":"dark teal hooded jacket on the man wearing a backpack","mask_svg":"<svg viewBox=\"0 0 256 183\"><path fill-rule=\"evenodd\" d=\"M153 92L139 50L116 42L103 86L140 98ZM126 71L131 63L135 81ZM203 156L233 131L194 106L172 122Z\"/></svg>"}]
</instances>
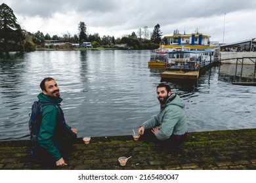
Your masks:
<instances>
[{"instance_id":1,"label":"dark teal hooded jacket on the man wearing a backpack","mask_svg":"<svg viewBox=\"0 0 256 183\"><path fill-rule=\"evenodd\" d=\"M37 95L42 103L53 103L54 105L45 105L42 109L42 123L37 137L38 143L45 148L55 161L62 158L60 150L64 133L70 133L70 127L64 121L64 114L59 114L57 105L60 105L62 99L51 99L49 96L40 93Z\"/></svg>"}]
</instances>

